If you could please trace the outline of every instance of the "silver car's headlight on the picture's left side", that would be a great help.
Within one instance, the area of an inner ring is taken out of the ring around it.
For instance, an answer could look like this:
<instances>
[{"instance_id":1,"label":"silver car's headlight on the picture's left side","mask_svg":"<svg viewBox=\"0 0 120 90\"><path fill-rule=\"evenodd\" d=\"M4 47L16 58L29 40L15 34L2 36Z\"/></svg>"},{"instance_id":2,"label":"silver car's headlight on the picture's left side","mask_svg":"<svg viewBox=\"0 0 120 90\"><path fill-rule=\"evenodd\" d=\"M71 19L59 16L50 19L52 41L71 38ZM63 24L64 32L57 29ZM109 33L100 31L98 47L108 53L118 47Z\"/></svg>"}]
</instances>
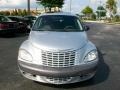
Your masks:
<instances>
[{"instance_id":1,"label":"silver car's headlight on the picture's left side","mask_svg":"<svg viewBox=\"0 0 120 90\"><path fill-rule=\"evenodd\" d=\"M23 49L19 50L19 58L29 62L31 62L33 59L31 54Z\"/></svg>"}]
</instances>

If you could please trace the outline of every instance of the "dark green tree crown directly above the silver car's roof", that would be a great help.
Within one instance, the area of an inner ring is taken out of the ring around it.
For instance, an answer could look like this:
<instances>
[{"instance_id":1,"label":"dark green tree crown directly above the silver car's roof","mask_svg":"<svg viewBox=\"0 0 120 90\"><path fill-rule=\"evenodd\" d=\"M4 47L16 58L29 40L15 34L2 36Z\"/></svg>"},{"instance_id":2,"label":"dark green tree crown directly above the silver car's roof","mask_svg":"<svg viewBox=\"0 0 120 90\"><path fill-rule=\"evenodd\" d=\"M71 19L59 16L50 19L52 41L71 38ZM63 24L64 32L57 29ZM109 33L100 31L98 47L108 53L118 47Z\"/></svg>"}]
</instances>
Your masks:
<instances>
[{"instance_id":1,"label":"dark green tree crown directly above the silver car's roof","mask_svg":"<svg viewBox=\"0 0 120 90\"><path fill-rule=\"evenodd\" d=\"M62 8L64 4L64 0L36 0L36 1L39 1L37 3L44 6L45 11L48 8L49 12L51 12L51 9L55 7Z\"/></svg>"}]
</instances>

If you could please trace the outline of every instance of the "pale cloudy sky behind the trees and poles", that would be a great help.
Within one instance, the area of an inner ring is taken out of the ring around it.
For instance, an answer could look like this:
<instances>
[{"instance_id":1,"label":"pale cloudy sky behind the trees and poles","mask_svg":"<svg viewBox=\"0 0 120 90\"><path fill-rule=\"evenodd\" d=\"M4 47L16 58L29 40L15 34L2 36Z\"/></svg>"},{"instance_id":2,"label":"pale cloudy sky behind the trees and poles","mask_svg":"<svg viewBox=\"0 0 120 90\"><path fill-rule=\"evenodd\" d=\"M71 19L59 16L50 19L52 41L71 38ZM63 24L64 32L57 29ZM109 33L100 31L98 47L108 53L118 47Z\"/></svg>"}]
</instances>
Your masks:
<instances>
[{"instance_id":1,"label":"pale cloudy sky behind the trees and poles","mask_svg":"<svg viewBox=\"0 0 120 90\"><path fill-rule=\"evenodd\" d=\"M106 0L71 0L72 4L72 12L73 13L80 13L85 6L89 5L94 10L96 10L97 6L104 5ZM120 0L118 0L118 11L120 12ZM18 9L27 8L27 0L0 0L0 10L7 10L7 9ZM38 6L36 4L36 0L31 0L31 8L41 8L41 6ZM62 8L63 11L69 12L70 11L70 0L65 0L65 4Z\"/></svg>"}]
</instances>

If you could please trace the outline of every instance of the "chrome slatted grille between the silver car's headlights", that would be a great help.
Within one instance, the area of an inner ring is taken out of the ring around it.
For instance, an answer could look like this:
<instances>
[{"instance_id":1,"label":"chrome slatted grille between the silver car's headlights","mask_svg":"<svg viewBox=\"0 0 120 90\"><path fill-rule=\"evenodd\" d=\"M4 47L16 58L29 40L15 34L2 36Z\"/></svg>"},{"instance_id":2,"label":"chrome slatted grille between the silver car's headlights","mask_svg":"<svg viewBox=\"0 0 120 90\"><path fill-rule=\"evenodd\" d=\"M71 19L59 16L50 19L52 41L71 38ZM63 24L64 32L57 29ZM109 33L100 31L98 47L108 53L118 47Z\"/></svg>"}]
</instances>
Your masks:
<instances>
[{"instance_id":1,"label":"chrome slatted grille between the silver car's headlights","mask_svg":"<svg viewBox=\"0 0 120 90\"><path fill-rule=\"evenodd\" d=\"M42 51L42 63L50 67L69 67L74 66L75 51L50 52Z\"/></svg>"}]
</instances>

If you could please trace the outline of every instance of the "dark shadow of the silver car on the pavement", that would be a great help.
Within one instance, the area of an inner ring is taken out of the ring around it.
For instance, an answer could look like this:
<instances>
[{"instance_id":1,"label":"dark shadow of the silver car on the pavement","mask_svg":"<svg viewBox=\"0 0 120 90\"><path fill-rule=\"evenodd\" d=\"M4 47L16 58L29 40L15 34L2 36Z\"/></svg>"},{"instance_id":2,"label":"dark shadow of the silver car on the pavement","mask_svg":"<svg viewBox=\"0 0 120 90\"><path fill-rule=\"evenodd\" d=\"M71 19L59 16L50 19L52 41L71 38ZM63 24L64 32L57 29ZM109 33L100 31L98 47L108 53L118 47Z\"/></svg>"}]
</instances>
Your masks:
<instances>
[{"instance_id":1,"label":"dark shadow of the silver car on the pavement","mask_svg":"<svg viewBox=\"0 0 120 90\"><path fill-rule=\"evenodd\" d=\"M53 88L72 89L72 88L78 88L78 87L93 86L106 81L109 77L110 69L109 69L109 66L104 62L103 56L105 54L102 54L100 51L98 52L99 52L100 62L94 78L84 82L67 84L67 85L49 85L49 84L42 84L42 85L53 87Z\"/></svg>"}]
</instances>

